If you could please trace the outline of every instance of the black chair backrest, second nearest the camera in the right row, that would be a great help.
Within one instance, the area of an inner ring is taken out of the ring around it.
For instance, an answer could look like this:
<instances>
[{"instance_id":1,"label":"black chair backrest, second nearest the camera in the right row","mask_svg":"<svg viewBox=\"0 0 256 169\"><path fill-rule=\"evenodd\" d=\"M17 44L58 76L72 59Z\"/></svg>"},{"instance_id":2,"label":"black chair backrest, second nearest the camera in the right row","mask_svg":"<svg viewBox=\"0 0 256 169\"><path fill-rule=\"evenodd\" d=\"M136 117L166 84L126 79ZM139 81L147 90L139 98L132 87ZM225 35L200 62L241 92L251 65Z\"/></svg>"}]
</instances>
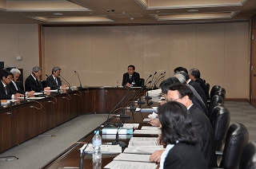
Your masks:
<instances>
[{"instance_id":1,"label":"black chair backrest, second nearest the camera in the right row","mask_svg":"<svg viewBox=\"0 0 256 169\"><path fill-rule=\"evenodd\" d=\"M226 142L219 167L238 169L242 150L249 140L249 132L243 124L231 124L226 132Z\"/></svg>"}]
</instances>

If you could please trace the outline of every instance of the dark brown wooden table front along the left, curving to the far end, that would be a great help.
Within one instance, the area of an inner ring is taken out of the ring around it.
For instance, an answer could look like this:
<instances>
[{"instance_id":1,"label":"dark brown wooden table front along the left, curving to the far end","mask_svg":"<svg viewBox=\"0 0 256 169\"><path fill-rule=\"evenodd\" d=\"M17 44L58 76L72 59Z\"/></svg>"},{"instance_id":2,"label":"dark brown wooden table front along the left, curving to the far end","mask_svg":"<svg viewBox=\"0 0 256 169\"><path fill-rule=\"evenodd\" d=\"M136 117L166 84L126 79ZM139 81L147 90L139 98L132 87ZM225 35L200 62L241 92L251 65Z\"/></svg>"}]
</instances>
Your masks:
<instances>
[{"instance_id":1,"label":"dark brown wooden table front along the left, curving to the far end","mask_svg":"<svg viewBox=\"0 0 256 169\"><path fill-rule=\"evenodd\" d=\"M110 112L134 100L140 88L88 87L71 92L50 92L40 100L0 108L0 153L83 113Z\"/></svg>"}]
</instances>

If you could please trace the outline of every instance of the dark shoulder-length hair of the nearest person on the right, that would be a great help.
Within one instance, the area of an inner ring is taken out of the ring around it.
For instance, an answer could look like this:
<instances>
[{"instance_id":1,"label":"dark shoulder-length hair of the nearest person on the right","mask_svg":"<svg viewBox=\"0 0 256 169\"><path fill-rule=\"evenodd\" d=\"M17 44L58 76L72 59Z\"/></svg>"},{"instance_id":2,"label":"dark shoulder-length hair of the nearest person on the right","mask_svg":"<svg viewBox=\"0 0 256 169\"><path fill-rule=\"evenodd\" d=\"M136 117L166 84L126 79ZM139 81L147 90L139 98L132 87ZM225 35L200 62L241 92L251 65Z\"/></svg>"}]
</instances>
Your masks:
<instances>
[{"instance_id":1,"label":"dark shoulder-length hair of the nearest person on the right","mask_svg":"<svg viewBox=\"0 0 256 169\"><path fill-rule=\"evenodd\" d=\"M184 104L170 101L159 106L158 116L162 124L162 142L175 144L187 143L195 145L198 143L197 133L192 125L192 116Z\"/></svg>"}]
</instances>

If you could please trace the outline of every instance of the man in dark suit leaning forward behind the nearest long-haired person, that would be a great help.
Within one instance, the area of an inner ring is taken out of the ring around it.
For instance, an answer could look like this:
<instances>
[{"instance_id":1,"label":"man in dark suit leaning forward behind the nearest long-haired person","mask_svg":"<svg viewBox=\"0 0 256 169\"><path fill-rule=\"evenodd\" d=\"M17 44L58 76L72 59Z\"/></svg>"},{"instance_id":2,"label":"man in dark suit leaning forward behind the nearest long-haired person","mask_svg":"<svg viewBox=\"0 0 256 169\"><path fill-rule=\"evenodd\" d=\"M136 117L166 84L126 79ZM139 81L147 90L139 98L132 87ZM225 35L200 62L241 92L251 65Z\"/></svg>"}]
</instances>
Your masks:
<instances>
[{"instance_id":1,"label":"man in dark suit leaning forward behind the nearest long-haired person","mask_svg":"<svg viewBox=\"0 0 256 169\"><path fill-rule=\"evenodd\" d=\"M192 125L198 133L198 140L208 167L218 167L215 155L214 130L207 116L192 103L193 92L186 85L172 85L167 92L168 101L178 101L186 106L192 116ZM159 125L159 122L150 121L152 125ZM159 161L162 151L155 151L151 161Z\"/></svg>"}]
</instances>

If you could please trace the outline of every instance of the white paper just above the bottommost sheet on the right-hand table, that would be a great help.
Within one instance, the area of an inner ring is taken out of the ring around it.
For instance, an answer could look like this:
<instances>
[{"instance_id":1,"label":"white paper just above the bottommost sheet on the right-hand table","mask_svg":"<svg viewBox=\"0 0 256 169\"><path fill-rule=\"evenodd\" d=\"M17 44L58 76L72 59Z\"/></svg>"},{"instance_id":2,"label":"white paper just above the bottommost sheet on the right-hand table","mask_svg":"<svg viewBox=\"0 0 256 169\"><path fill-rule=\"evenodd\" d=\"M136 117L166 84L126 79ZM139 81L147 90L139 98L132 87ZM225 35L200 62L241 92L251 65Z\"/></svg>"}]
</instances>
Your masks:
<instances>
[{"instance_id":1,"label":"white paper just above the bottommost sheet on the right-hand table","mask_svg":"<svg viewBox=\"0 0 256 169\"><path fill-rule=\"evenodd\" d=\"M114 157L114 160L149 162L150 163L150 155L137 155L137 154L121 153L120 155Z\"/></svg>"}]
</instances>

